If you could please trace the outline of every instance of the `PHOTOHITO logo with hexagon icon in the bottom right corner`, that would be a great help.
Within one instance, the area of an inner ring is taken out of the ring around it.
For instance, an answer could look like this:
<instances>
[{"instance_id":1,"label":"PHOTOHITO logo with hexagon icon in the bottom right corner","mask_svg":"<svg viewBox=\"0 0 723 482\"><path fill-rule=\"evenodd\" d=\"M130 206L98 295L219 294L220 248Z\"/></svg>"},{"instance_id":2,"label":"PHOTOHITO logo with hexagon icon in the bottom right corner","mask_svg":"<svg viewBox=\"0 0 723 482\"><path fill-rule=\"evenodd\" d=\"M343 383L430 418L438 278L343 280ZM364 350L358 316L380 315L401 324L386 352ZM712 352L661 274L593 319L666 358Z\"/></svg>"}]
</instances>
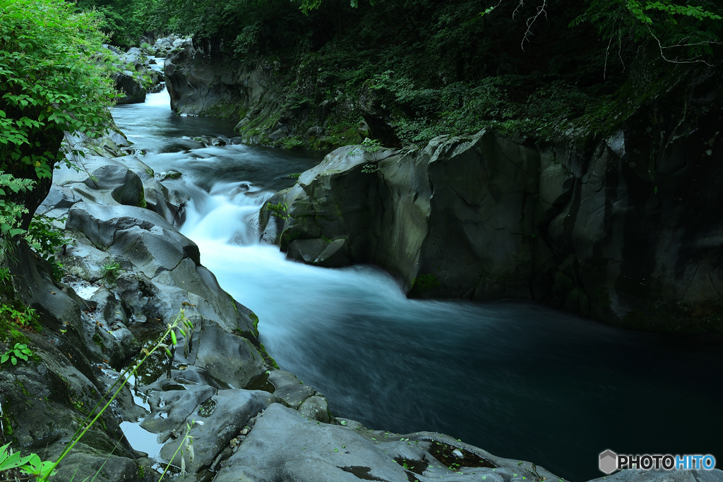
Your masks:
<instances>
[{"instance_id":1,"label":"PHOTOHITO logo with hexagon icon in the bottom right corner","mask_svg":"<svg viewBox=\"0 0 723 482\"><path fill-rule=\"evenodd\" d=\"M685 470L705 469L713 470L716 467L716 457L712 455L617 455L612 450L600 452L600 471L611 474L623 468L642 468L649 470Z\"/></svg>"}]
</instances>

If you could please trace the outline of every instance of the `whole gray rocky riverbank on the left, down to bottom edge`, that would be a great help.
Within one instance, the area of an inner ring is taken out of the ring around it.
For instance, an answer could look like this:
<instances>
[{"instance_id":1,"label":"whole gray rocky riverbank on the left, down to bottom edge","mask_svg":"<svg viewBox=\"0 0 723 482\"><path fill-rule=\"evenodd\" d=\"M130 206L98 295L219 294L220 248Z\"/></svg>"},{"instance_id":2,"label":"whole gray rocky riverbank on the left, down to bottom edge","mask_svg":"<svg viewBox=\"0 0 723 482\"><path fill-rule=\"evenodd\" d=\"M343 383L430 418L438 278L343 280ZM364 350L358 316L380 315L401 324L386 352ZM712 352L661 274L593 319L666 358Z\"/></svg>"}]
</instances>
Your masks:
<instances>
[{"instance_id":1,"label":"whole gray rocky riverbank on the left, down to bottom edge","mask_svg":"<svg viewBox=\"0 0 723 482\"><path fill-rule=\"evenodd\" d=\"M114 145L124 144L116 136ZM334 418L324 395L275 366L258 341L257 317L223 291L177 230L185 199L164 181L173 176L106 152L77 159L81 171L56 173L39 209L72 240L58 256L68 275L54 280L24 243L10 260L17 296L38 311L42 331L24 333L30 361L0 369L4 439L52 460L181 307L194 331L187 356L179 340L171 366L161 355L143 367L54 480L158 480L154 468L171 459L192 421L195 457L175 480L555 478L441 434L392 434ZM121 424L153 439L156 453L134 449Z\"/></svg>"}]
</instances>

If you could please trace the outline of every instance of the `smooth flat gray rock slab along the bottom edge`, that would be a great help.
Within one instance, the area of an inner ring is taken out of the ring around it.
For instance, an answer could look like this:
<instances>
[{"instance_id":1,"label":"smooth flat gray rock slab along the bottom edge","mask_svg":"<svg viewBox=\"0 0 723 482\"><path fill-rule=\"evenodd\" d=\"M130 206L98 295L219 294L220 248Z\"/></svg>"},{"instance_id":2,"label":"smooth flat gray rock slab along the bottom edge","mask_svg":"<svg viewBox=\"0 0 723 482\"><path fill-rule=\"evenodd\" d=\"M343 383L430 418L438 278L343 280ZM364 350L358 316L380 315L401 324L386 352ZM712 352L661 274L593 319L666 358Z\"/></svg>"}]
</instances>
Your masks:
<instances>
[{"instance_id":1,"label":"smooth flat gray rock slab along the bottom edge","mask_svg":"<svg viewBox=\"0 0 723 482\"><path fill-rule=\"evenodd\" d=\"M465 457L479 460L477 466L465 467L463 473L449 470L432 455L441 444L459 447ZM399 436L369 431L359 424L351 429L319 423L274 403L257 419L214 480L508 482L543 477L555 475L529 462L495 457L448 436L428 432Z\"/></svg>"}]
</instances>

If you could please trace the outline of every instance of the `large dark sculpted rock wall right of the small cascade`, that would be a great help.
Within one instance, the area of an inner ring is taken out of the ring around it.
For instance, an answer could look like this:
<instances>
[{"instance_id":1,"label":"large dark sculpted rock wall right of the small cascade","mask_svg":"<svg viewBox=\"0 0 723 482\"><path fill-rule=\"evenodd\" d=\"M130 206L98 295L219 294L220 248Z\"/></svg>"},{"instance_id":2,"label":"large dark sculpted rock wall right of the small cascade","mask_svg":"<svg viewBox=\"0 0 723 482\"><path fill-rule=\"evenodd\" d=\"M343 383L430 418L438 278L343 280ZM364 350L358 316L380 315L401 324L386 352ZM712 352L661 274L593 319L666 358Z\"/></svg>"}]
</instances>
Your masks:
<instances>
[{"instance_id":1,"label":"large dark sculpted rock wall right of the small cascade","mask_svg":"<svg viewBox=\"0 0 723 482\"><path fill-rule=\"evenodd\" d=\"M646 151L619 137L617 151L604 143L587 158L487 131L406 153L342 147L277 195L288 220L274 237L303 262L378 264L408 296L534 299L627 327L723 330L723 219L702 215L721 200L723 168L670 147L652 177L635 167ZM708 181L693 189L692 177Z\"/></svg>"}]
</instances>

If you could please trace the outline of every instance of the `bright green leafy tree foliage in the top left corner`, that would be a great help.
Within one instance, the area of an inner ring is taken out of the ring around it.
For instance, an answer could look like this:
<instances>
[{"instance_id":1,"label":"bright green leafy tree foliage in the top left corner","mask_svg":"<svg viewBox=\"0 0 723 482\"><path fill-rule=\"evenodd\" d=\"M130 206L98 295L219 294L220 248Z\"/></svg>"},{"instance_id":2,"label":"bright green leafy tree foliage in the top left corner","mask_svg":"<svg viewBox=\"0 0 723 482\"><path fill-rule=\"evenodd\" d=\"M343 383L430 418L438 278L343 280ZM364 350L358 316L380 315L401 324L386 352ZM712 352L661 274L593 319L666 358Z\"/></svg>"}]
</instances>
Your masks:
<instances>
[{"instance_id":1,"label":"bright green leafy tree foliage in the top left corner","mask_svg":"<svg viewBox=\"0 0 723 482\"><path fill-rule=\"evenodd\" d=\"M40 179L42 186L9 197L27 208L23 225L47 194L55 163L64 159L64 132L98 137L116 97L96 62L105 40L98 15L76 14L73 7L63 0L0 0L0 170Z\"/></svg>"}]
</instances>

